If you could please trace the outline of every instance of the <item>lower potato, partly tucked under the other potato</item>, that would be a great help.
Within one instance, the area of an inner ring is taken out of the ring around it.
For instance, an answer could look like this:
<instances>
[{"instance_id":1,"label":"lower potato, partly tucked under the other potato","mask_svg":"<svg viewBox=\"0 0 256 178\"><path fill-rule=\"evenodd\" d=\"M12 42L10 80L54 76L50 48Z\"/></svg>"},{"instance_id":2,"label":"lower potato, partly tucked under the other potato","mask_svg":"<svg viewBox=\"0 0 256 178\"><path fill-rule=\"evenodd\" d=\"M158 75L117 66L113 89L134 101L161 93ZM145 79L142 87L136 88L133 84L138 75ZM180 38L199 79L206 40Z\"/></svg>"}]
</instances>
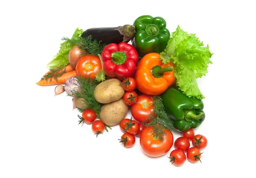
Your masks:
<instances>
[{"instance_id":1,"label":"lower potato, partly tucked under the other potato","mask_svg":"<svg viewBox=\"0 0 256 178\"><path fill-rule=\"evenodd\" d=\"M104 104L99 113L99 117L105 124L113 126L119 124L125 118L128 112L128 105L125 104L123 99L115 102Z\"/></svg>"}]
</instances>

